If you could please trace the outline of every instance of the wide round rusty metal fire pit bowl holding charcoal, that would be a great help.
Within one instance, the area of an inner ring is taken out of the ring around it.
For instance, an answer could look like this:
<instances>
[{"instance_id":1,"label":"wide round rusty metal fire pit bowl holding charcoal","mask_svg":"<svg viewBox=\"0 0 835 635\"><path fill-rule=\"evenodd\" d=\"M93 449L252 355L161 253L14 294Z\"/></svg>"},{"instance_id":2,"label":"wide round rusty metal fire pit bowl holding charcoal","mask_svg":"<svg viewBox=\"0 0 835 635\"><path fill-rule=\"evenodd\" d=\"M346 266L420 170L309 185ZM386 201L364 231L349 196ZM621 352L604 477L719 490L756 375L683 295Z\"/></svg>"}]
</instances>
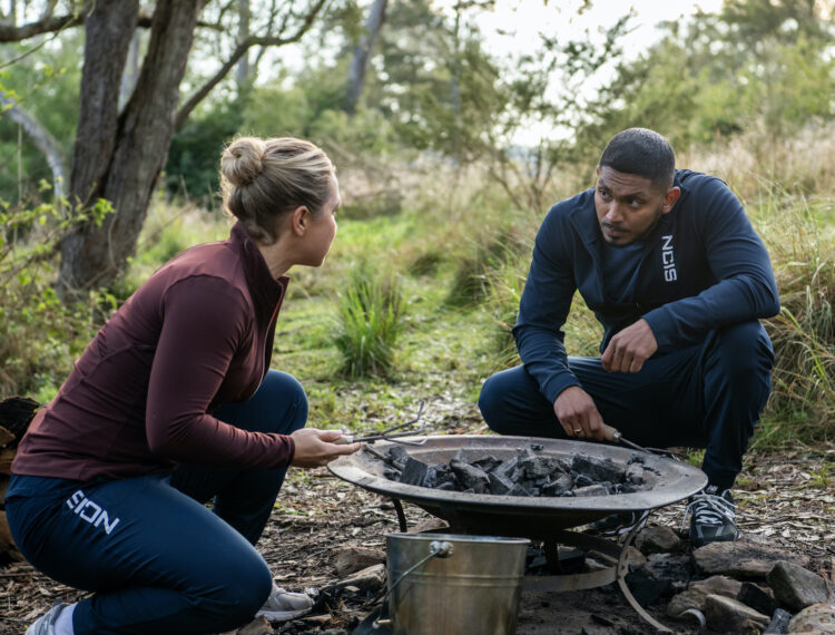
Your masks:
<instances>
[{"instance_id":1,"label":"wide round rusty metal fire pit bowl holding charcoal","mask_svg":"<svg viewBox=\"0 0 835 635\"><path fill-rule=\"evenodd\" d=\"M449 434L425 439L420 446L406 444L404 448L411 457L430 465L450 461L462 448L468 460L473 461L487 456L507 460L522 448L539 446L541 455L568 460L582 452L626 465L637 455L656 477L648 483L648 489L631 494L519 497L438 490L389 480L383 476L386 463L365 450L341 457L327 467L343 480L411 502L443 518L455 531L541 539L610 514L665 507L687 498L707 485L705 473L694 466L617 446L564 439L479 434ZM393 444L395 443L391 441L377 441L373 448L380 453L386 453Z\"/></svg>"}]
</instances>

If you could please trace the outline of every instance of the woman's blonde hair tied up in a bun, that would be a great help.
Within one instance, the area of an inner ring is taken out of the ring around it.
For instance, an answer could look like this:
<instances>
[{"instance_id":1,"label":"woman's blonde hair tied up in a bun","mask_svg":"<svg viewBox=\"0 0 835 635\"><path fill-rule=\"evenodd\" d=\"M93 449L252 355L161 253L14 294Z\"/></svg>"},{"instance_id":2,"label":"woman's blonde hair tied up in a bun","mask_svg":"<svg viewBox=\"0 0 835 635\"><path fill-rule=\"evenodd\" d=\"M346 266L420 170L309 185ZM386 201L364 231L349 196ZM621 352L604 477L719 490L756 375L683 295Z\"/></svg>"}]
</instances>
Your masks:
<instances>
[{"instance_id":1,"label":"woman's blonde hair tied up in a bun","mask_svg":"<svg viewBox=\"0 0 835 635\"><path fill-rule=\"evenodd\" d=\"M220 157L224 206L257 242L277 238L278 219L306 206L318 216L336 172L325 152L292 137L240 137Z\"/></svg>"}]
</instances>

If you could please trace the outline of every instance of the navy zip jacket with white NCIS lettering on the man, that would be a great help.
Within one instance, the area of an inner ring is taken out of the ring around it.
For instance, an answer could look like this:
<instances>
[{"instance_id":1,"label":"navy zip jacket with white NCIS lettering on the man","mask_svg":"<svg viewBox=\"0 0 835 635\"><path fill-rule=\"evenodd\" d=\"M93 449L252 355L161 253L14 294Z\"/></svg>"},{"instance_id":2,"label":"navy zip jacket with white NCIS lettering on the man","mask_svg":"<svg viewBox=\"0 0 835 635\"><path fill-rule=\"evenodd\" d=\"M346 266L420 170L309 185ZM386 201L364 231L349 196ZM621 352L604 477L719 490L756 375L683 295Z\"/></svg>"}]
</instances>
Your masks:
<instances>
[{"instance_id":1,"label":"navy zip jacket with white NCIS lettering on the man","mask_svg":"<svg viewBox=\"0 0 835 635\"><path fill-rule=\"evenodd\" d=\"M677 170L675 185L681 195L645 241L626 302L611 302L603 291L595 188L558 203L543 221L513 335L551 403L579 385L562 331L577 290L603 325L601 353L612 335L640 318L652 329L660 355L698 343L708 331L779 312L768 253L739 199L720 179L690 170Z\"/></svg>"}]
</instances>

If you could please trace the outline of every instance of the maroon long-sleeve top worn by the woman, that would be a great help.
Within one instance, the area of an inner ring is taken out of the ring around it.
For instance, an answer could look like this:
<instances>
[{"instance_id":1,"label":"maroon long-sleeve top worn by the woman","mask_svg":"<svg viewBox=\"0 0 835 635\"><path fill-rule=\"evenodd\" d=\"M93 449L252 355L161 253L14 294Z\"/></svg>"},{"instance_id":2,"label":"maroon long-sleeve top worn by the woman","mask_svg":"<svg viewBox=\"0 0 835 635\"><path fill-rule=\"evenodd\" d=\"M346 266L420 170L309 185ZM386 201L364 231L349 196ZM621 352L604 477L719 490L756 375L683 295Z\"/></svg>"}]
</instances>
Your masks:
<instances>
[{"instance_id":1,"label":"maroon long-sleeve top worn by the woman","mask_svg":"<svg viewBox=\"0 0 835 635\"><path fill-rule=\"evenodd\" d=\"M272 277L239 223L227 241L163 265L38 411L12 472L86 481L164 472L178 462L288 465L289 437L212 416L220 403L252 397L266 374L286 285L286 277Z\"/></svg>"}]
</instances>

